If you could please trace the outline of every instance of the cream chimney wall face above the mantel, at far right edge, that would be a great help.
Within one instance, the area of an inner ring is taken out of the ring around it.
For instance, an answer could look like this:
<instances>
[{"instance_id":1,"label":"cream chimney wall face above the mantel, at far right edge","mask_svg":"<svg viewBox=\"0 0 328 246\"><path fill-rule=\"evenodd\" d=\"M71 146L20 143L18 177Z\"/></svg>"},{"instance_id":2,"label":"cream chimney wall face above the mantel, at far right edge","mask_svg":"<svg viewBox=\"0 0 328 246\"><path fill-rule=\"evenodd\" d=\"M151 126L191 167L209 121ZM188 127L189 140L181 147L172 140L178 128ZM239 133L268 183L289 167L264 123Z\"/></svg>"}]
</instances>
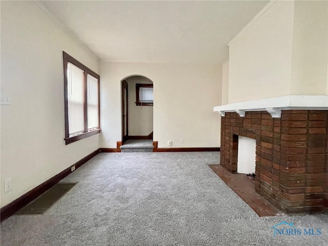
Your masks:
<instances>
[{"instance_id":1,"label":"cream chimney wall face above the mantel, at far right edge","mask_svg":"<svg viewBox=\"0 0 328 246\"><path fill-rule=\"evenodd\" d=\"M292 95L325 95L328 1L295 1Z\"/></svg>"}]
</instances>

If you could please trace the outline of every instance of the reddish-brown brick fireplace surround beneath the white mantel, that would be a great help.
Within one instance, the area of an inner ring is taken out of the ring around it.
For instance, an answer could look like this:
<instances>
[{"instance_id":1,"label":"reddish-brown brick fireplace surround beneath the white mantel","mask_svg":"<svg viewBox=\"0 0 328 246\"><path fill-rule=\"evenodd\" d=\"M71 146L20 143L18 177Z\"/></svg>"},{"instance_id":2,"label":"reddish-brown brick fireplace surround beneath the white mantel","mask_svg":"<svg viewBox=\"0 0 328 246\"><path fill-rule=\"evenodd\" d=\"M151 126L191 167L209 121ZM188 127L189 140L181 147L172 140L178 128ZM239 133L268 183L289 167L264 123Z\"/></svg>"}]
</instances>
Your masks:
<instances>
[{"instance_id":1,"label":"reddish-brown brick fireplace surround beneath the white mantel","mask_svg":"<svg viewBox=\"0 0 328 246\"><path fill-rule=\"evenodd\" d=\"M328 207L328 111L226 113L220 163L237 172L238 135L256 139L255 189L285 212Z\"/></svg>"}]
</instances>

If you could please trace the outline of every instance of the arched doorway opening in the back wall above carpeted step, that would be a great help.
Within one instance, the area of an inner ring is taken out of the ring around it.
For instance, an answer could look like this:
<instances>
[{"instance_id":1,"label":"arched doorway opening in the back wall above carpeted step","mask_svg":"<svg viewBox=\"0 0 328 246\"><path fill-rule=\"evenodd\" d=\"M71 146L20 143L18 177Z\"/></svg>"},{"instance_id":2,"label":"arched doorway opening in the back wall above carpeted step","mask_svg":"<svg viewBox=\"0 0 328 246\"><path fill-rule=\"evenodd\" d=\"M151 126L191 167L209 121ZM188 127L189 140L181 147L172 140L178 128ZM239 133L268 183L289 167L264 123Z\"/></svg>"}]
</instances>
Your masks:
<instances>
[{"instance_id":1,"label":"arched doorway opening in the back wall above carpeted step","mask_svg":"<svg viewBox=\"0 0 328 246\"><path fill-rule=\"evenodd\" d=\"M142 75L121 80L122 144L153 139L153 81Z\"/></svg>"}]
</instances>

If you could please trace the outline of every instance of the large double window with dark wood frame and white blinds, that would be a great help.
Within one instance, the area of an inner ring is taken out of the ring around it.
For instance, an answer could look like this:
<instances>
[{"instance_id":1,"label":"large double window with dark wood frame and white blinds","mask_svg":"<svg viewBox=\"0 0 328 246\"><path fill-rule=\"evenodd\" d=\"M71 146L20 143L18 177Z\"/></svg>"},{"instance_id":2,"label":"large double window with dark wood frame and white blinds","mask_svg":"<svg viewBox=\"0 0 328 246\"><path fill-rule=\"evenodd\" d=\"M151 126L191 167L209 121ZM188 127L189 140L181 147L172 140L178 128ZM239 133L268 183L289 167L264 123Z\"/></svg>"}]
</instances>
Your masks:
<instances>
[{"instance_id":1,"label":"large double window with dark wood frame and white blinds","mask_svg":"<svg viewBox=\"0 0 328 246\"><path fill-rule=\"evenodd\" d=\"M63 51L66 145L100 132L99 75Z\"/></svg>"}]
</instances>

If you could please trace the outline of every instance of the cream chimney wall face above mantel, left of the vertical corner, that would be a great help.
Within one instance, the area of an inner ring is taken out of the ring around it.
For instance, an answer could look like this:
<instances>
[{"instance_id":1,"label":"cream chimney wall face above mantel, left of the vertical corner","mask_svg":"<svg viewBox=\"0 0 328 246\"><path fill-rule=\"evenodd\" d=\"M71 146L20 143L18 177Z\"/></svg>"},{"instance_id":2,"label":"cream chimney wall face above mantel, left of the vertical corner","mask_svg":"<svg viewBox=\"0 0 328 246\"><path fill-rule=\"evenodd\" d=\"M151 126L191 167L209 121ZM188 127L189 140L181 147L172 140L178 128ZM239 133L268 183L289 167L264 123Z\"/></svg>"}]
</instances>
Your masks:
<instances>
[{"instance_id":1,"label":"cream chimney wall face above mantel, left of the vertical corner","mask_svg":"<svg viewBox=\"0 0 328 246\"><path fill-rule=\"evenodd\" d=\"M293 1L277 1L229 47L229 103L290 94Z\"/></svg>"}]
</instances>

